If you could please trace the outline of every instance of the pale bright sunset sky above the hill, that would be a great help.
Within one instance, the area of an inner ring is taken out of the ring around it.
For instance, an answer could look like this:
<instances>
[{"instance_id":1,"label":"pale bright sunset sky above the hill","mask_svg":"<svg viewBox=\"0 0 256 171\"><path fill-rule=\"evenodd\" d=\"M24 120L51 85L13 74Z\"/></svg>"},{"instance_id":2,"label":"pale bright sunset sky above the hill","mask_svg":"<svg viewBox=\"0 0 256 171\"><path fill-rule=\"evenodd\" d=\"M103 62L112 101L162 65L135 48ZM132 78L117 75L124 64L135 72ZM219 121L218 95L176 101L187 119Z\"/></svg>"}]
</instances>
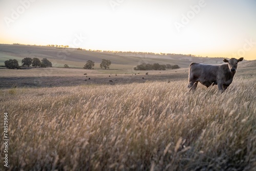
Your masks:
<instances>
[{"instance_id":1,"label":"pale bright sunset sky above the hill","mask_svg":"<svg viewBox=\"0 0 256 171\"><path fill-rule=\"evenodd\" d=\"M0 0L0 44L256 59L255 0Z\"/></svg>"}]
</instances>

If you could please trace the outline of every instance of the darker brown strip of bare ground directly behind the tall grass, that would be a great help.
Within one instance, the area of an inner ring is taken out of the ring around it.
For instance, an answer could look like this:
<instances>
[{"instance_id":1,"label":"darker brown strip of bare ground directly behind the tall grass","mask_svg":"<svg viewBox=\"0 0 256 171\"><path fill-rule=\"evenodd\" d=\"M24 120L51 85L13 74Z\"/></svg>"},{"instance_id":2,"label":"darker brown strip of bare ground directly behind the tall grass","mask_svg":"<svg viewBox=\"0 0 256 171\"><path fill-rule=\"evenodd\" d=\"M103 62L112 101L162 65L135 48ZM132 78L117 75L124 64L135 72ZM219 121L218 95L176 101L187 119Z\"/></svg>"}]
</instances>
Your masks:
<instances>
[{"instance_id":1,"label":"darker brown strip of bare ground directly behind the tall grass","mask_svg":"<svg viewBox=\"0 0 256 171\"><path fill-rule=\"evenodd\" d=\"M187 72L138 72L129 74L69 74L68 76L4 76L0 78L0 88L11 87L63 87L87 84L126 84L133 82L146 82L156 80L178 81L186 80Z\"/></svg>"}]
</instances>

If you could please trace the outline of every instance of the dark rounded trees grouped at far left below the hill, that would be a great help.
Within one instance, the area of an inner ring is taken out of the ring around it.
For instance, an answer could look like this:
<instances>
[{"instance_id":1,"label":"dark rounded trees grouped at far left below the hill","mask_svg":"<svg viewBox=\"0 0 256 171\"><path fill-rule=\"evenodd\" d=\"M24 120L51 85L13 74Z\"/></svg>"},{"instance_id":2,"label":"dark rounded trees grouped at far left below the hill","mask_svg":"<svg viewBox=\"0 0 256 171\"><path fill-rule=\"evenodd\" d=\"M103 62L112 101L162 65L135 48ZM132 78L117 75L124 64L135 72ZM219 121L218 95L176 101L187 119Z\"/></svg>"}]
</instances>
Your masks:
<instances>
[{"instance_id":1,"label":"dark rounded trees grouped at far left below the hill","mask_svg":"<svg viewBox=\"0 0 256 171\"><path fill-rule=\"evenodd\" d=\"M29 58L26 57L22 59L22 66L33 66L33 67L41 67L41 68L47 68L52 67L52 62L50 62L47 58L42 59L41 61L38 58ZM19 64L16 59L9 59L5 61L5 66L8 69L19 69Z\"/></svg>"}]
</instances>

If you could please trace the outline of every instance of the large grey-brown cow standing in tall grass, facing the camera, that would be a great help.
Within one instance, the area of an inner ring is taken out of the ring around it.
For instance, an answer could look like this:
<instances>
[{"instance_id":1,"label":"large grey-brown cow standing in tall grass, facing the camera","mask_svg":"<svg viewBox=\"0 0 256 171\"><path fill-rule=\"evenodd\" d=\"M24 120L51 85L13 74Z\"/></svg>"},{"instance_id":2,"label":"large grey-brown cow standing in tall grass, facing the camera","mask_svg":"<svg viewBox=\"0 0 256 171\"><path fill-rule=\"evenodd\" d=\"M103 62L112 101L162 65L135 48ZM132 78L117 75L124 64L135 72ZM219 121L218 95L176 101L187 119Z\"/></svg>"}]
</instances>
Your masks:
<instances>
[{"instance_id":1,"label":"large grey-brown cow standing in tall grass, facing the camera","mask_svg":"<svg viewBox=\"0 0 256 171\"><path fill-rule=\"evenodd\" d=\"M231 84L234 74L237 72L238 62L243 59L243 57L239 59L223 59L226 63L220 65L209 65L197 62L190 63L188 73L189 84L187 86L190 89L189 91L195 91L198 82L200 82L207 88L218 85L219 91L224 92Z\"/></svg>"}]
</instances>

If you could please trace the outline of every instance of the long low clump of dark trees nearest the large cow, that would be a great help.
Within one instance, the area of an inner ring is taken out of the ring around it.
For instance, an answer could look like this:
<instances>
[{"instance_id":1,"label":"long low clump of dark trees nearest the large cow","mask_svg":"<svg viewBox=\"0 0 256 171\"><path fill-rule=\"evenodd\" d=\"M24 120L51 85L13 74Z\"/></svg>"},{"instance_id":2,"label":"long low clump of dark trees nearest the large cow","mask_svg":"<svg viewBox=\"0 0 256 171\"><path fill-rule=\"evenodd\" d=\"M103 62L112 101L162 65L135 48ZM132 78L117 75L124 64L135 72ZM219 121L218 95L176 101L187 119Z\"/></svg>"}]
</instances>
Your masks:
<instances>
[{"instance_id":1,"label":"long low clump of dark trees nearest the large cow","mask_svg":"<svg viewBox=\"0 0 256 171\"><path fill-rule=\"evenodd\" d=\"M138 65L134 67L134 70L166 70L166 69L178 69L180 68L178 65L160 65L159 63L142 63L141 65Z\"/></svg>"}]
</instances>

